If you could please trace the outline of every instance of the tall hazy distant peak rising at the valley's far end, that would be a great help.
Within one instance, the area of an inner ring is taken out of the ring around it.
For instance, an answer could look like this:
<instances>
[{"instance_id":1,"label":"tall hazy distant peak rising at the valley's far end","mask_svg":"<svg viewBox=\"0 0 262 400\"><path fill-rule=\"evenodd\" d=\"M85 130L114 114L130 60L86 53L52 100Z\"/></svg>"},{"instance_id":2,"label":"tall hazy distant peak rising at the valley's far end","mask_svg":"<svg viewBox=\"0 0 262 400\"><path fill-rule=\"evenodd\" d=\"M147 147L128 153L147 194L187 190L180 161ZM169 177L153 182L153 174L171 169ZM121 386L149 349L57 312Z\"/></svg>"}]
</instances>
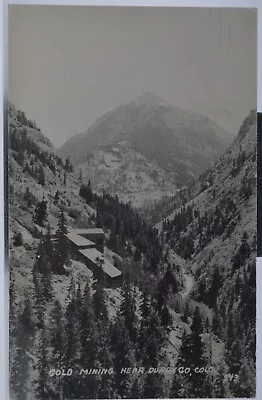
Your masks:
<instances>
[{"instance_id":1,"label":"tall hazy distant peak rising at the valley's far end","mask_svg":"<svg viewBox=\"0 0 262 400\"><path fill-rule=\"evenodd\" d=\"M70 157L86 176L94 178L101 152L104 158L115 159L119 171L135 174L132 164L140 158L143 162L141 185L132 189L115 170L116 163L103 169L104 181L118 181L114 187L119 195L145 191L174 192L188 183L212 164L232 140L231 136L207 117L196 115L164 102L159 96L145 93L135 101L121 105L100 117L86 132L70 138L59 149L63 157ZM99 155L97 155L99 152ZM130 152L130 162L126 156ZM121 153L123 154L121 156ZM152 181L150 170L155 165L157 176ZM161 177L165 174L165 179ZM159 176L158 176L159 175ZM146 184L148 181L148 184ZM101 182L95 179L95 187ZM110 190L110 184L103 182ZM132 185L131 185L132 186Z\"/></svg>"}]
</instances>

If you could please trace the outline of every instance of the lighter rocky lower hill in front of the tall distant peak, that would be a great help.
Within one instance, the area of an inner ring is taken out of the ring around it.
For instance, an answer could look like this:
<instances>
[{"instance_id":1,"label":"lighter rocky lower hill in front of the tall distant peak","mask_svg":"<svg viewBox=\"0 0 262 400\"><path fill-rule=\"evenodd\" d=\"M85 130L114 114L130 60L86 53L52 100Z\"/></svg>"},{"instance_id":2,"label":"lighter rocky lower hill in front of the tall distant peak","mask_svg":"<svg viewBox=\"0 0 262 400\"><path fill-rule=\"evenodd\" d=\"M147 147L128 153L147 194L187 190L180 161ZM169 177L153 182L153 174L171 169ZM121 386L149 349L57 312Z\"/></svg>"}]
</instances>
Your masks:
<instances>
[{"instance_id":1,"label":"lighter rocky lower hill in front of the tall distant peak","mask_svg":"<svg viewBox=\"0 0 262 400\"><path fill-rule=\"evenodd\" d=\"M93 188L102 193L116 193L133 206L141 208L172 196L176 191L175 176L165 171L144 155L121 142L110 149L97 149L88 161L76 167L84 180L90 180Z\"/></svg>"}]
</instances>

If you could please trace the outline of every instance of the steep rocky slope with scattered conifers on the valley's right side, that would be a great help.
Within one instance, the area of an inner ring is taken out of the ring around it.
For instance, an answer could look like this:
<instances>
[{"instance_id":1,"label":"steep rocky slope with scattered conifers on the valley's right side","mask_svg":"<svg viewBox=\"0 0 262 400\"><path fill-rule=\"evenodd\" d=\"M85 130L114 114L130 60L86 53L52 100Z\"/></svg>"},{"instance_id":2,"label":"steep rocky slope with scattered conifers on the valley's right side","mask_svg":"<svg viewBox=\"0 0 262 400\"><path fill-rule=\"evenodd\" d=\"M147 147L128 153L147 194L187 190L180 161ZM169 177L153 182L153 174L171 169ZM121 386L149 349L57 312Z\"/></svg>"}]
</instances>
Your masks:
<instances>
[{"instance_id":1,"label":"steep rocky slope with scattered conifers on the valley's right side","mask_svg":"<svg viewBox=\"0 0 262 400\"><path fill-rule=\"evenodd\" d=\"M172 203L172 213L156 227L187 262L194 277L191 298L213 310L213 334L224 343L224 361L248 393L255 385L255 110L218 162Z\"/></svg>"}]
</instances>

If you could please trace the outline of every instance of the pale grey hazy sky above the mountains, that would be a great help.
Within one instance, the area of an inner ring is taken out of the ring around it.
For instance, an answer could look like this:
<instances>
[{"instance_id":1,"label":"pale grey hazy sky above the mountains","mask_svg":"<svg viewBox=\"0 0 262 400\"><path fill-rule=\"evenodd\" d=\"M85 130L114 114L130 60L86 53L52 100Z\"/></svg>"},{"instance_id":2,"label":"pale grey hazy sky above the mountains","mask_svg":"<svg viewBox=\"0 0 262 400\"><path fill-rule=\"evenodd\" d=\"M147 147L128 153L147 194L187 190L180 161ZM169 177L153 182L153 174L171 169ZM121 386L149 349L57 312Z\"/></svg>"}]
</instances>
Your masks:
<instances>
[{"instance_id":1,"label":"pale grey hazy sky above the mountains","mask_svg":"<svg viewBox=\"0 0 262 400\"><path fill-rule=\"evenodd\" d=\"M236 134L256 107L256 12L9 7L9 99L56 146L152 92Z\"/></svg>"}]
</instances>

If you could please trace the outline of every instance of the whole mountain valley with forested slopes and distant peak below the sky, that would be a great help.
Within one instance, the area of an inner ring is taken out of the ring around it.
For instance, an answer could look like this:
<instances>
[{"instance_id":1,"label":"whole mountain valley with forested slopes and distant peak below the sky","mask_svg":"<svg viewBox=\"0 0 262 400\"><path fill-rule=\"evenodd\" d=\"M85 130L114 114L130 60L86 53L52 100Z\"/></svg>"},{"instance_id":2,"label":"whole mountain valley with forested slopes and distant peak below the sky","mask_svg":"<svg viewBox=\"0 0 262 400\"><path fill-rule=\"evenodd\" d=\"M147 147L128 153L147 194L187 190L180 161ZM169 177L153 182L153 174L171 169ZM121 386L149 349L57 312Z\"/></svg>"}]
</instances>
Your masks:
<instances>
[{"instance_id":1,"label":"whole mountain valley with forested slopes and distant peak below the sky","mask_svg":"<svg viewBox=\"0 0 262 400\"><path fill-rule=\"evenodd\" d=\"M225 137L147 93L58 151L9 105L13 400L254 395L255 111Z\"/></svg>"}]
</instances>

